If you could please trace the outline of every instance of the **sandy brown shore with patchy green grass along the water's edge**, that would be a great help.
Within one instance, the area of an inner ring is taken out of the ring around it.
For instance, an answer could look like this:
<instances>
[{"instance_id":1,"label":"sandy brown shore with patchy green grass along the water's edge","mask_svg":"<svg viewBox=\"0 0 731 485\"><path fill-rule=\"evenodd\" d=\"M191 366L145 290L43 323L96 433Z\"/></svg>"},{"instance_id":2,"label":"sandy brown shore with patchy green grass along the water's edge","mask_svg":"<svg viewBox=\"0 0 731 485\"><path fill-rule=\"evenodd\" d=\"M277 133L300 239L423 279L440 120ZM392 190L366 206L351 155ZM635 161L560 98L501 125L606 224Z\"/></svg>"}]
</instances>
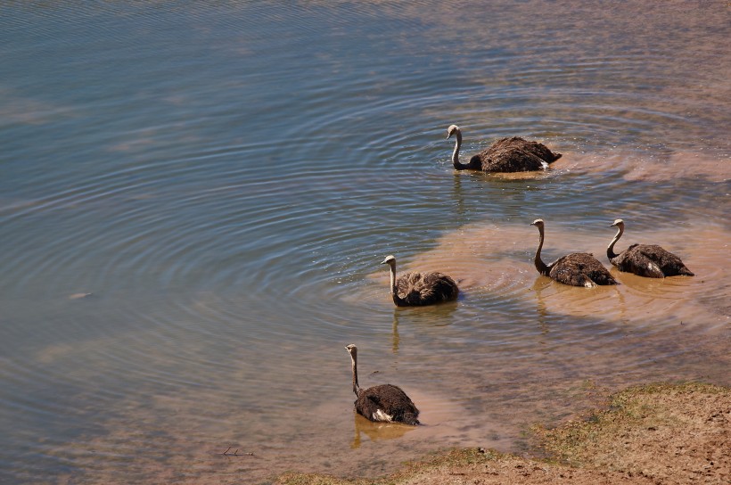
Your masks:
<instances>
[{"instance_id":1,"label":"sandy brown shore with patchy green grass along the water's edge","mask_svg":"<svg viewBox=\"0 0 731 485\"><path fill-rule=\"evenodd\" d=\"M525 456L452 449L387 477L285 473L282 485L731 483L731 388L650 384L554 429L535 425Z\"/></svg>"}]
</instances>

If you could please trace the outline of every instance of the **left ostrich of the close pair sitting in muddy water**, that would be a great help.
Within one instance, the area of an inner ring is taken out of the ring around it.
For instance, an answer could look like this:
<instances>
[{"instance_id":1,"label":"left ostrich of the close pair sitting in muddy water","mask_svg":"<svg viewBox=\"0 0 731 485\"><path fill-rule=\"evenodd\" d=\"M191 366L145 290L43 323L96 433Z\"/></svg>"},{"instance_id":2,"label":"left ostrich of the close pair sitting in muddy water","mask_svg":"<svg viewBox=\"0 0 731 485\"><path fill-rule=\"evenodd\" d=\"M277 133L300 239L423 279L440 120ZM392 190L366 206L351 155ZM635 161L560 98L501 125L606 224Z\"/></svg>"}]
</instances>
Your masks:
<instances>
[{"instance_id":1,"label":"left ostrich of the close pair sitting in muddy water","mask_svg":"<svg viewBox=\"0 0 731 485\"><path fill-rule=\"evenodd\" d=\"M536 250L536 269L538 273L549 276L551 279L563 284L571 284L573 286L596 286L597 284L617 284L612 278L609 271L602 266L594 256L587 252L572 252L559 259L556 259L550 265L546 265L540 259L540 250L543 249L543 219L536 219L530 223L530 226L537 226L540 234L540 242L538 250Z\"/></svg>"}]
</instances>

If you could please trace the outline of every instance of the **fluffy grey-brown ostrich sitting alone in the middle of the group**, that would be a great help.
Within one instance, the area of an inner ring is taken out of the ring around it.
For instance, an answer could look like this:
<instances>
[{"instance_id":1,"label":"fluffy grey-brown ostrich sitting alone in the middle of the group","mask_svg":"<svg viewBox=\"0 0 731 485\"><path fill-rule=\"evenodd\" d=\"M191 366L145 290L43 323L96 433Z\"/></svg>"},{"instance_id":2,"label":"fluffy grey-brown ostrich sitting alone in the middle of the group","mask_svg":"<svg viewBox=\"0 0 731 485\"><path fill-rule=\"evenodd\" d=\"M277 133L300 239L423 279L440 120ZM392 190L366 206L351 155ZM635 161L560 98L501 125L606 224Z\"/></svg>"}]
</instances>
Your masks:
<instances>
[{"instance_id":1,"label":"fluffy grey-brown ostrich sitting alone in the middle of the group","mask_svg":"<svg viewBox=\"0 0 731 485\"><path fill-rule=\"evenodd\" d=\"M421 307L456 300L455 280L442 273L407 273L396 277L396 258L387 256L382 265L390 266L390 294L397 307Z\"/></svg>"}]
</instances>

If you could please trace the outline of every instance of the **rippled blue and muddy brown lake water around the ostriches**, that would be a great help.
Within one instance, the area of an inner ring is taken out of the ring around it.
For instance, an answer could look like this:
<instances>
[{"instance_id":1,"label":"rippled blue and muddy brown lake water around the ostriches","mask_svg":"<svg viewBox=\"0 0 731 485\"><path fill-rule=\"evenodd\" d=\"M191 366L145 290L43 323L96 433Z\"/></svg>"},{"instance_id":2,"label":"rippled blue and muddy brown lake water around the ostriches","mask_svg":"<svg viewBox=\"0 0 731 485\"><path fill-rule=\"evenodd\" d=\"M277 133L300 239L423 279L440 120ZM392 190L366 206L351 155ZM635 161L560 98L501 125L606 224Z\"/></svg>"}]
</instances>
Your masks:
<instances>
[{"instance_id":1,"label":"rippled blue and muddy brown lake water around the ostriches","mask_svg":"<svg viewBox=\"0 0 731 485\"><path fill-rule=\"evenodd\" d=\"M0 4L0 482L374 476L731 384L727 2ZM455 172L499 136L563 158ZM658 243L696 274L532 266ZM456 303L396 309L398 269ZM397 383L423 426L353 414ZM236 456L225 456L224 452ZM236 452L235 450L238 450Z\"/></svg>"}]
</instances>

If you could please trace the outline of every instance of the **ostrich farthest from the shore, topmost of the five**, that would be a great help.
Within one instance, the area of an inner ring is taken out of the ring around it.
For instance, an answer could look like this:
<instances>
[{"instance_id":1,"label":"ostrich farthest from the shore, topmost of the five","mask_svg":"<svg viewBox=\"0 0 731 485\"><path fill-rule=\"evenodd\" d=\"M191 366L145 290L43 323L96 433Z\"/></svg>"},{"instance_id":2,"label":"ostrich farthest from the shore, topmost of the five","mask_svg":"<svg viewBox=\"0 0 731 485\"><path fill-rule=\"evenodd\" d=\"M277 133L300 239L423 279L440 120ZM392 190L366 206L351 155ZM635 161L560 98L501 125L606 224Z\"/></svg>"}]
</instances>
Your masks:
<instances>
[{"instance_id":1,"label":"ostrich farthest from the shore, topmost of the five","mask_svg":"<svg viewBox=\"0 0 731 485\"><path fill-rule=\"evenodd\" d=\"M452 164L457 170L483 170L485 172L527 172L546 169L549 163L561 158L561 153L548 150L546 145L529 142L520 136L500 138L489 148L472 155L468 163L459 161L462 131L456 125L447 128L447 139L456 134Z\"/></svg>"}]
</instances>

